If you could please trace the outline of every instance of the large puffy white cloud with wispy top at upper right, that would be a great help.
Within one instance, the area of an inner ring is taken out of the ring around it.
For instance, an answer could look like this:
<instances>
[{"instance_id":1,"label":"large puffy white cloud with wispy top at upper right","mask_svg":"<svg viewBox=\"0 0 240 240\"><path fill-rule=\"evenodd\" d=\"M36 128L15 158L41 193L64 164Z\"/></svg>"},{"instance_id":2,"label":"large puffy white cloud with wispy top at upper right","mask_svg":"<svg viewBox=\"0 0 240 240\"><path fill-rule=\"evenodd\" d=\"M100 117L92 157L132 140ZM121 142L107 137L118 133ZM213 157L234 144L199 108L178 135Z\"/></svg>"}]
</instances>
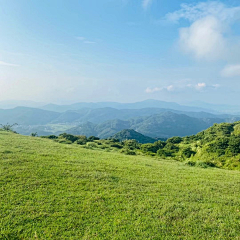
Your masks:
<instances>
[{"instance_id":1,"label":"large puffy white cloud with wispy top at upper right","mask_svg":"<svg viewBox=\"0 0 240 240\"><path fill-rule=\"evenodd\" d=\"M188 20L190 26L179 29L179 43L185 53L197 59L219 59L229 51L227 29L240 19L240 6L227 7L217 1L197 4L182 4L181 9L166 15L166 19L177 23Z\"/></svg>"}]
</instances>

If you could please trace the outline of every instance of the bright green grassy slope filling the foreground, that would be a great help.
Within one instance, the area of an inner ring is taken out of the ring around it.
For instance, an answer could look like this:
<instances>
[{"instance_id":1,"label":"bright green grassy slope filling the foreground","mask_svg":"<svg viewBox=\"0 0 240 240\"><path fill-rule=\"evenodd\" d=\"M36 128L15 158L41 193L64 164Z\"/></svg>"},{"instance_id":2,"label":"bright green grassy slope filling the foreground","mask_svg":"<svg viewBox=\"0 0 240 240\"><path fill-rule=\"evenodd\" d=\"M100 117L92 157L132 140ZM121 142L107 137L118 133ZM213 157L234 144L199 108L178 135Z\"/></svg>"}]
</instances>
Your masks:
<instances>
[{"instance_id":1,"label":"bright green grassy slope filling the foreground","mask_svg":"<svg viewBox=\"0 0 240 240\"><path fill-rule=\"evenodd\" d=\"M0 239L239 239L240 175L0 132Z\"/></svg>"}]
</instances>

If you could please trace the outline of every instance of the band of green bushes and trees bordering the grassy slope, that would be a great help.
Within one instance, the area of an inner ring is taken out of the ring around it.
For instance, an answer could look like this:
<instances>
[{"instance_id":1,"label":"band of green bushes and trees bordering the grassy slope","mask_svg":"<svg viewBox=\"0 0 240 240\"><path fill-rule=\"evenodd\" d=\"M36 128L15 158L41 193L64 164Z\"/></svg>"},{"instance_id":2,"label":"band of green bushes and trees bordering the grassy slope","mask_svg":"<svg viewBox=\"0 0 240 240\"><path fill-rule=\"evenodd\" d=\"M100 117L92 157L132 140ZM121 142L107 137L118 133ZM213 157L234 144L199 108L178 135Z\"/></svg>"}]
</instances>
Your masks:
<instances>
[{"instance_id":1,"label":"band of green bushes and trees bordering the grassy slope","mask_svg":"<svg viewBox=\"0 0 240 240\"><path fill-rule=\"evenodd\" d=\"M166 141L140 144L136 140L99 139L91 136L60 134L44 138L59 143L79 144L89 149L144 154L164 159L175 159L201 167L220 167L240 170L240 122L214 124L196 135L172 137Z\"/></svg>"}]
</instances>

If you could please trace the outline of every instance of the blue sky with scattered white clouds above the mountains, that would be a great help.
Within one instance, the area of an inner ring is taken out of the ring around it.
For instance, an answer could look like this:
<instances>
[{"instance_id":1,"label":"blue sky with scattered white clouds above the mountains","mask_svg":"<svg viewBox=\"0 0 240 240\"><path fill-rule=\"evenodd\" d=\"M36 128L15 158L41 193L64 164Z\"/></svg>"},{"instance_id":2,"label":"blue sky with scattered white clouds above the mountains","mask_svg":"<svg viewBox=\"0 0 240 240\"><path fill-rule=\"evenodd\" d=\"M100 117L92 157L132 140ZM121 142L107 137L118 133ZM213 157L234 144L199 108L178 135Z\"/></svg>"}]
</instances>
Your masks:
<instances>
[{"instance_id":1,"label":"blue sky with scattered white clouds above the mountains","mask_svg":"<svg viewBox=\"0 0 240 240\"><path fill-rule=\"evenodd\" d=\"M0 101L240 101L240 2L0 0Z\"/></svg>"}]
</instances>

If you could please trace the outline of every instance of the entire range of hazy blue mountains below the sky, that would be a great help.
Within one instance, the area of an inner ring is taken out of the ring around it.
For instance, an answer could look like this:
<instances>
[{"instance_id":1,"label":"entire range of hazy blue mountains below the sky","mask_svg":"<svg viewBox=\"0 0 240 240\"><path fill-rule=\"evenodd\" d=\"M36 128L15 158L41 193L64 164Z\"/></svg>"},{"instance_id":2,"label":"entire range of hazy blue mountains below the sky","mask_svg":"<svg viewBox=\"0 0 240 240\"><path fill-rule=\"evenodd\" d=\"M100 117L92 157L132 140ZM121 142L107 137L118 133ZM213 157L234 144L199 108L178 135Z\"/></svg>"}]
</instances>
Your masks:
<instances>
[{"instance_id":1,"label":"entire range of hazy blue mountains below the sky","mask_svg":"<svg viewBox=\"0 0 240 240\"><path fill-rule=\"evenodd\" d=\"M196 134L214 123L239 119L238 115L202 111L202 108L157 100L0 109L0 124L18 123L15 130L25 135L67 132L108 138L124 129L133 129L151 138L169 138Z\"/></svg>"}]
</instances>

